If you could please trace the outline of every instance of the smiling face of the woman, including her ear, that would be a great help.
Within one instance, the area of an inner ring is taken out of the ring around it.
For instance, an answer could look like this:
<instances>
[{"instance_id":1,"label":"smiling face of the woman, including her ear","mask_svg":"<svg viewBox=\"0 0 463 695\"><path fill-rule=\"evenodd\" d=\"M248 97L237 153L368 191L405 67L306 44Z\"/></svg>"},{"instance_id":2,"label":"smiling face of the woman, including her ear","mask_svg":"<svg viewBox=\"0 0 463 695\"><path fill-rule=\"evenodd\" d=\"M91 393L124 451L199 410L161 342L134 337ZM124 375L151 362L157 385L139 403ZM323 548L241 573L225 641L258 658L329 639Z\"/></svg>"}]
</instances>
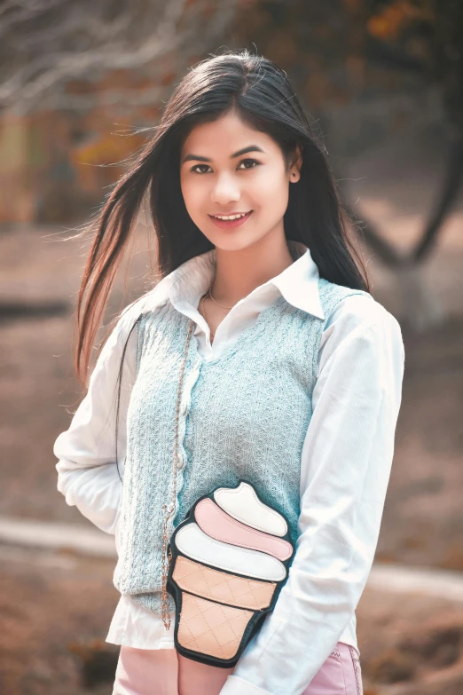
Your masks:
<instances>
[{"instance_id":1,"label":"smiling face of the woman, including her ear","mask_svg":"<svg viewBox=\"0 0 463 695\"><path fill-rule=\"evenodd\" d=\"M239 250L267 234L284 236L289 182L279 145L228 113L195 126L180 153L180 183L192 221L218 249ZM246 213L233 221L218 216Z\"/></svg>"}]
</instances>

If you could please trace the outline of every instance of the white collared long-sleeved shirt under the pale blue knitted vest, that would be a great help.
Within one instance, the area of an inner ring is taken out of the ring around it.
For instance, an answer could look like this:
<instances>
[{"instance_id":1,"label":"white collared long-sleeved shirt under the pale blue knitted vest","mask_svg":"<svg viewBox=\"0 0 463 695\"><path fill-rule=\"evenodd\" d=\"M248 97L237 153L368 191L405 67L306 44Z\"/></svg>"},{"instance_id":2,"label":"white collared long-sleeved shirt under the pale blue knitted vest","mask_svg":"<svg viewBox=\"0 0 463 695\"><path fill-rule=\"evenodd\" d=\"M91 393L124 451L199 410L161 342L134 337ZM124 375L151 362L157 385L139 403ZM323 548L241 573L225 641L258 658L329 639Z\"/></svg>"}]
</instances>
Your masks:
<instances>
[{"instance_id":1,"label":"white collared long-sleeved shirt under the pale blue knitted vest","mask_svg":"<svg viewBox=\"0 0 463 695\"><path fill-rule=\"evenodd\" d=\"M142 298L144 311L169 299L177 311L194 320L193 335L200 357L206 361L218 359L278 296L323 319L318 267L310 250L299 242L290 241L288 246L299 255L297 260L239 300L217 327L213 344L198 304L214 277L214 249L161 280ZM115 383L123 345L140 305L132 304L109 336L87 395L53 449L59 458L59 492L66 496L67 504L76 505L106 533L115 533L122 504L122 482L114 463ZM311 530L298 540L287 582L292 587L285 594L287 605L280 605L283 594L277 604L278 615L290 616L290 620L286 625L280 618L274 619L271 635L262 629L253 638L228 677L223 695L299 695L337 641L357 648L355 608L380 532L403 374L404 344L396 319L370 297L343 299L322 335L313 415L302 447L300 525L310 525ZM135 331L129 338L122 372L117 439L121 475L126 454L125 415L134 379ZM336 537L337 542L324 547L328 525L330 538ZM346 608L351 613L347 625L342 623ZM174 648L174 616L171 618L167 632L161 618L129 596L121 596L106 641L141 649Z\"/></svg>"}]
</instances>

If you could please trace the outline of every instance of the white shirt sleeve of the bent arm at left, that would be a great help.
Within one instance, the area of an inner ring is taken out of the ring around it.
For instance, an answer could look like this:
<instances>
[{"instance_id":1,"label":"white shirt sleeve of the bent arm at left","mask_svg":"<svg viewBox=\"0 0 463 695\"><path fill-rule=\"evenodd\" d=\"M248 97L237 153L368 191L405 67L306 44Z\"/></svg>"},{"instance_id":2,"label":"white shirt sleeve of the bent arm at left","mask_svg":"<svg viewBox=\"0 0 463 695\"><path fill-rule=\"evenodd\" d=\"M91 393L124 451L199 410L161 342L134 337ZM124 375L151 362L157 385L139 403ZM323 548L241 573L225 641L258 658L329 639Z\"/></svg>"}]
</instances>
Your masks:
<instances>
[{"instance_id":1,"label":"white shirt sleeve of the bent arm at left","mask_svg":"<svg viewBox=\"0 0 463 695\"><path fill-rule=\"evenodd\" d=\"M115 459L117 380L122 351L139 305L122 314L99 354L90 376L87 394L77 408L69 429L53 446L59 459L58 490L69 505L106 533L115 533L122 502L122 480L126 454L127 407L136 372L136 332L131 332L122 369L121 403Z\"/></svg>"}]
</instances>

